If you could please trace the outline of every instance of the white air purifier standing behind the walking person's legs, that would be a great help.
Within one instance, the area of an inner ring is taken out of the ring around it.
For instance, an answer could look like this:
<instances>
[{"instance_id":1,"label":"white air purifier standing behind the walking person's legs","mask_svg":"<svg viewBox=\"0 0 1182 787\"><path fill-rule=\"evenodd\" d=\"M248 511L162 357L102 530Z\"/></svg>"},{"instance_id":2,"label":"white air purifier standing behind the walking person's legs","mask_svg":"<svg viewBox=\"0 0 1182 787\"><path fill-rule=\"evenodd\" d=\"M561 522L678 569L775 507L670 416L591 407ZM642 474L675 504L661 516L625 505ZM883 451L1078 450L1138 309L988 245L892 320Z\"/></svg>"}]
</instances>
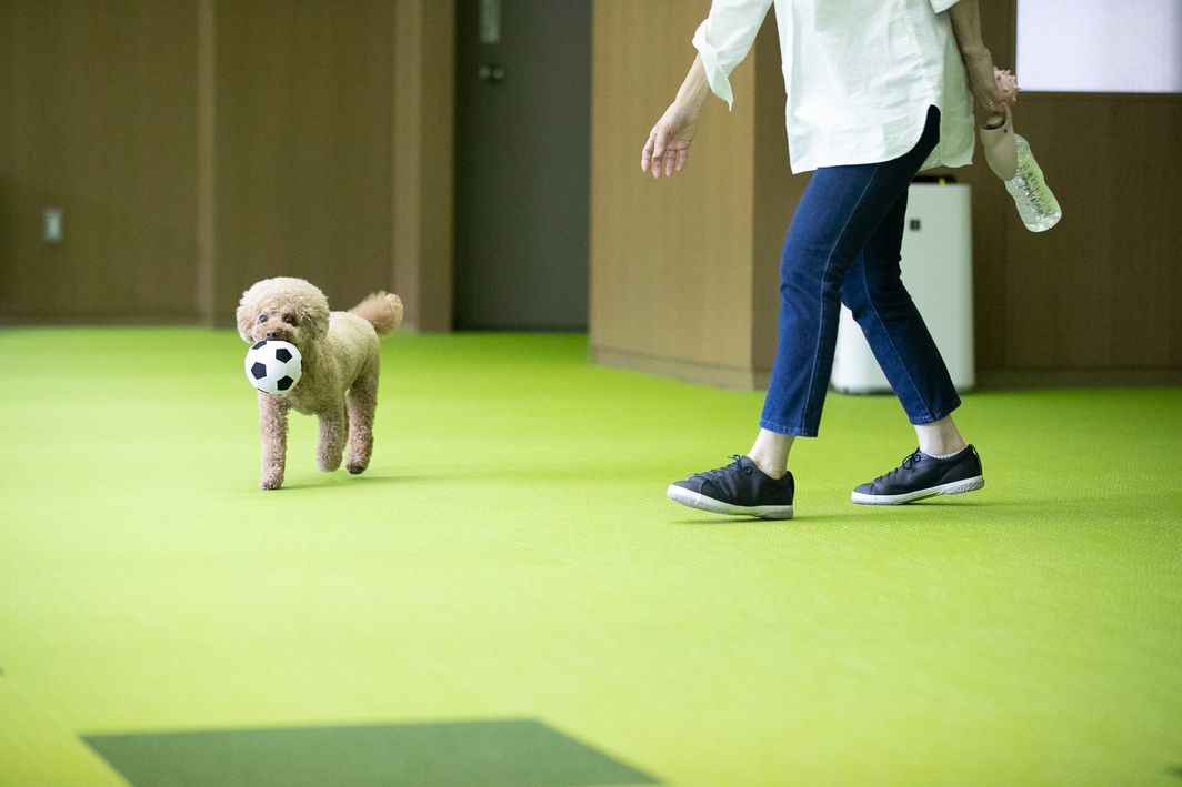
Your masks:
<instances>
[{"instance_id":1,"label":"white air purifier standing behind the walking person's legs","mask_svg":"<svg viewBox=\"0 0 1182 787\"><path fill-rule=\"evenodd\" d=\"M967 183L915 182L907 197L903 285L936 340L957 391L976 383L973 356L973 233ZM843 394L890 394L853 314L842 306L833 355L833 388Z\"/></svg>"}]
</instances>

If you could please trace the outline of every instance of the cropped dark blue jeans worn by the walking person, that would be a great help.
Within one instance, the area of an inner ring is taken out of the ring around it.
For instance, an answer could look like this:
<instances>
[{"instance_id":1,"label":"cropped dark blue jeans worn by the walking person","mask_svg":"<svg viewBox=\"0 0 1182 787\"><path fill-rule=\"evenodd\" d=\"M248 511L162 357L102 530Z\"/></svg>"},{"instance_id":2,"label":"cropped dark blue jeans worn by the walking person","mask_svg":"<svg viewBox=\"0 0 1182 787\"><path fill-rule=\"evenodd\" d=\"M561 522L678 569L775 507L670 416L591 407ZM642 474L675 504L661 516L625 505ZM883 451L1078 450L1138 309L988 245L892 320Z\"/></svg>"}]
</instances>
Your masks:
<instances>
[{"instance_id":1,"label":"cropped dark blue jeans worn by the walking person","mask_svg":"<svg viewBox=\"0 0 1182 787\"><path fill-rule=\"evenodd\" d=\"M780 260L780 326L760 427L816 437L840 304L853 312L913 424L960 405L943 358L900 278L907 189L940 138L940 110L894 161L813 173Z\"/></svg>"}]
</instances>

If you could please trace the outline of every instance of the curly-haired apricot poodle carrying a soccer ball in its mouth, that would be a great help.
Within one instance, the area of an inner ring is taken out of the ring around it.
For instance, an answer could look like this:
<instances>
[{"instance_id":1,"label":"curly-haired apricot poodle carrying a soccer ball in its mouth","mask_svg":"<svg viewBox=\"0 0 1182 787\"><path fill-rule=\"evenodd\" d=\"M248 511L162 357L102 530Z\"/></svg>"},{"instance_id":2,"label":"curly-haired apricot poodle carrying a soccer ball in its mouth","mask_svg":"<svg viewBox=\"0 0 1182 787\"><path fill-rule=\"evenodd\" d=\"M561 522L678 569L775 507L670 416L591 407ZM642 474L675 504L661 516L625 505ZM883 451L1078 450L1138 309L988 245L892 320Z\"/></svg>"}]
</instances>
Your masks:
<instances>
[{"instance_id":1,"label":"curly-haired apricot poodle carrying a soccer ball in its mouth","mask_svg":"<svg viewBox=\"0 0 1182 787\"><path fill-rule=\"evenodd\" d=\"M265 279L245 293L238 306L238 332L248 344L279 339L303 356L298 384L286 394L259 392L262 432L262 479L259 487L284 482L287 411L320 419L316 464L331 473L340 467L362 473L374 449L374 410L381 366L378 336L402 324L402 301L395 294L370 295L349 312L330 312L329 299L303 279Z\"/></svg>"}]
</instances>

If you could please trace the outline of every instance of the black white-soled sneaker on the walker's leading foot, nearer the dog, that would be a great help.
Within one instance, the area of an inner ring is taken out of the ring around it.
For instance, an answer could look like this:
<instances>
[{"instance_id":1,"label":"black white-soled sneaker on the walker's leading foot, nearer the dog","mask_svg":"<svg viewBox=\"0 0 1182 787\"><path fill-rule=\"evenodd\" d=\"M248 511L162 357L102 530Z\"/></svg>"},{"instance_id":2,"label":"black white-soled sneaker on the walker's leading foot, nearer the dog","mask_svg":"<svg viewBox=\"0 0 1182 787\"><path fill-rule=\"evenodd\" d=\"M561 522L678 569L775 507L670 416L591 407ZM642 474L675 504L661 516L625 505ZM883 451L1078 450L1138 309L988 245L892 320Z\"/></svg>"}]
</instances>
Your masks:
<instances>
[{"instance_id":1,"label":"black white-soled sneaker on the walker's leading foot, nearer the dog","mask_svg":"<svg viewBox=\"0 0 1182 787\"><path fill-rule=\"evenodd\" d=\"M715 514L792 519L792 474L777 481L746 456L669 486L669 500Z\"/></svg>"}]
</instances>

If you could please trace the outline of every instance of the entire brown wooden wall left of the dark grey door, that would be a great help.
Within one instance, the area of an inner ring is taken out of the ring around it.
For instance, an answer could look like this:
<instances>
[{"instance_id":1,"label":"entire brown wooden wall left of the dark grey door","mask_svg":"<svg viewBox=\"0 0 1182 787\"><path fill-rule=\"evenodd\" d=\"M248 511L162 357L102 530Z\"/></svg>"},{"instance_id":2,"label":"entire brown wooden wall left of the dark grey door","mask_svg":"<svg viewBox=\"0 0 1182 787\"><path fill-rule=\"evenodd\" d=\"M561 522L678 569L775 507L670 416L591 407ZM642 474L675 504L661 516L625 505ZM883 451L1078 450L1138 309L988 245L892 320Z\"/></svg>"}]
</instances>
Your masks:
<instances>
[{"instance_id":1,"label":"entire brown wooden wall left of the dark grey door","mask_svg":"<svg viewBox=\"0 0 1182 787\"><path fill-rule=\"evenodd\" d=\"M0 324L229 325L249 284L292 274L342 308L409 282L408 325L449 330L453 18L0 0ZM61 245L41 242L47 207Z\"/></svg>"}]
</instances>

